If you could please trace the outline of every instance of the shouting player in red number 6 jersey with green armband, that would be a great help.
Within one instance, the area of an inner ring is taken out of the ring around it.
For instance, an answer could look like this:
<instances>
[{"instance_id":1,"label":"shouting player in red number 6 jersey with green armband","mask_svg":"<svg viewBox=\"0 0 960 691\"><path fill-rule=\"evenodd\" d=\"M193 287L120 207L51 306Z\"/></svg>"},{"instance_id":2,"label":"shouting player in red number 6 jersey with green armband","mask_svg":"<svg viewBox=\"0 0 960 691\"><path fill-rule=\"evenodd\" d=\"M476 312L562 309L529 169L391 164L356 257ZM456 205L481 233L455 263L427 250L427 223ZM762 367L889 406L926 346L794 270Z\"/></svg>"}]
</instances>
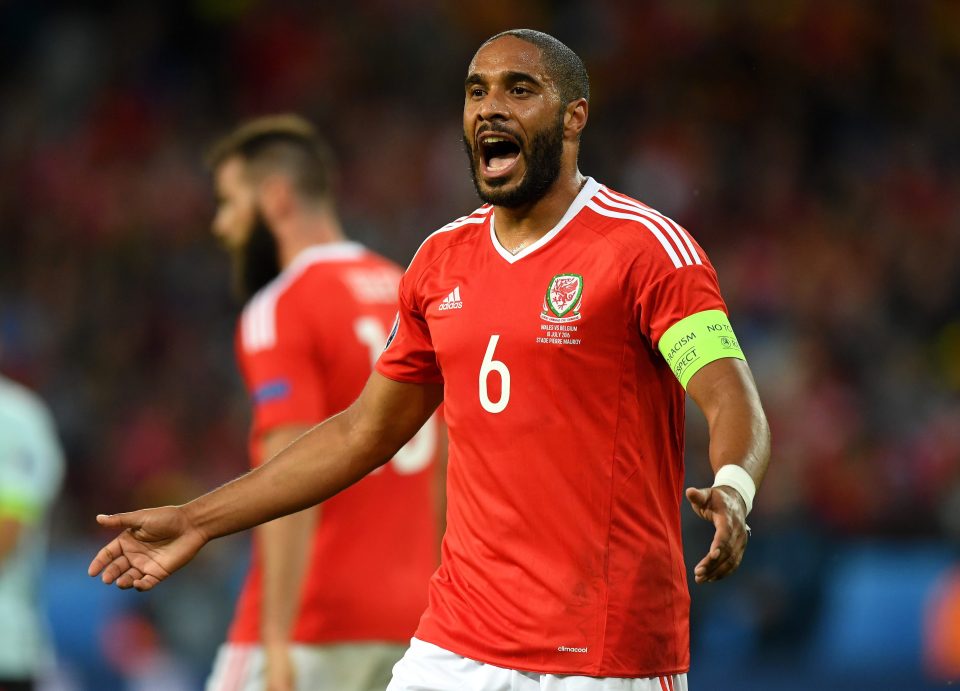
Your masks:
<instances>
[{"instance_id":1,"label":"shouting player in red number 6 jersey with green armband","mask_svg":"<svg viewBox=\"0 0 960 691\"><path fill-rule=\"evenodd\" d=\"M716 473L686 491L715 527L698 583L740 564L769 432L702 248L578 170L588 99L553 37L488 39L463 109L486 203L417 252L358 400L215 492L98 517L125 530L90 573L152 588L213 537L349 486L443 400L441 565L390 691L686 688L684 391Z\"/></svg>"}]
</instances>

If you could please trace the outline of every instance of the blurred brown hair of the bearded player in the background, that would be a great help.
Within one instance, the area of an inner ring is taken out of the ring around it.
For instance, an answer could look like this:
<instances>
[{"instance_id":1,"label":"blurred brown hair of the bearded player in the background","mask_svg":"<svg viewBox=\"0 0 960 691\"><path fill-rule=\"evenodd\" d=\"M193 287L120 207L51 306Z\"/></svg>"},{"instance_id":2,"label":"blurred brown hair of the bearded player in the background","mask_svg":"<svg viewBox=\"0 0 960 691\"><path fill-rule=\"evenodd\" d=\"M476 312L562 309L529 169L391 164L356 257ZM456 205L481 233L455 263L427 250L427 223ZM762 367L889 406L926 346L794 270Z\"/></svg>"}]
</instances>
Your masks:
<instances>
[{"instance_id":1,"label":"blurred brown hair of the bearded player in the background","mask_svg":"<svg viewBox=\"0 0 960 691\"><path fill-rule=\"evenodd\" d=\"M247 164L254 179L277 171L287 174L306 201L332 196L333 155L313 125L299 115L268 115L241 123L214 142L204 161L214 171L234 156Z\"/></svg>"}]
</instances>

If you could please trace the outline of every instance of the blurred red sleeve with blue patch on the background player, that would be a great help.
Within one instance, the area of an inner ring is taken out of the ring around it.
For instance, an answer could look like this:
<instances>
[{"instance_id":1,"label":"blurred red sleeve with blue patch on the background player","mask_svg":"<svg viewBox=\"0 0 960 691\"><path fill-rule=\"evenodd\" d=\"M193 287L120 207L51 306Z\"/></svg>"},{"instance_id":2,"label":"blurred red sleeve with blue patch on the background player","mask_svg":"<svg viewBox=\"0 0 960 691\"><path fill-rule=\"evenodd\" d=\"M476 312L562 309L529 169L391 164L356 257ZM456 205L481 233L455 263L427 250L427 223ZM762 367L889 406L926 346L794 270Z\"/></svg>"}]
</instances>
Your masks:
<instances>
[{"instance_id":1,"label":"blurred red sleeve with blue patch on the background player","mask_svg":"<svg viewBox=\"0 0 960 691\"><path fill-rule=\"evenodd\" d=\"M273 305L255 299L244 310L237 359L253 406L254 438L282 425L313 424L326 409L310 324L297 318L296 303L282 299Z\"/></svg>"}]
</instances>

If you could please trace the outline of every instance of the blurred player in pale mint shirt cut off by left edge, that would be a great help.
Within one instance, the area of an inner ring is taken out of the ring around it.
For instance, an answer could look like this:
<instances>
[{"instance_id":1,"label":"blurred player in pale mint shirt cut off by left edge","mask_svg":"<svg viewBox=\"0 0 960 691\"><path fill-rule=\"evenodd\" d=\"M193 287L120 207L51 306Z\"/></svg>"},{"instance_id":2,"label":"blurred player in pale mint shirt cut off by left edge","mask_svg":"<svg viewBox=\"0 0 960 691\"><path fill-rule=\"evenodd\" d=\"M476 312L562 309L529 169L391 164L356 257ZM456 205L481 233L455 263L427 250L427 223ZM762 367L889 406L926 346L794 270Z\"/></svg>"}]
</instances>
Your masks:
<instances>
[{"instance_id":1,"label":"blurred player in pale mint shirt cut off by left edge","mask_svg":"<svg viewBox=\"0 0 960 691\"><path fill-rule=\"evenodd\" d=\"M63 473L46 405L0 376L0 691L31 691L52 662L39 588Z\"/></svg>"}]
</instances>

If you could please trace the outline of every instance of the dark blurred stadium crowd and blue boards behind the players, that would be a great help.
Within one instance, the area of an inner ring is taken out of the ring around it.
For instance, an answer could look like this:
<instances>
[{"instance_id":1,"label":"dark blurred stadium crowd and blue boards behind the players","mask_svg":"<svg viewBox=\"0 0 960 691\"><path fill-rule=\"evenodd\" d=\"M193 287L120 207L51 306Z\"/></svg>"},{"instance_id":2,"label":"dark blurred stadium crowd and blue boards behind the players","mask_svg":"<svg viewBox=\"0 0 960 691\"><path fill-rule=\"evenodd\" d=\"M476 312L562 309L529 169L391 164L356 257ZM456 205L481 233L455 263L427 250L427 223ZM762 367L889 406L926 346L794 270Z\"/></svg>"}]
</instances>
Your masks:
<instances>
[{"instance_id":1,"label":"dark blurred stadium crowd and blue boards behind the players","mask_svg":"<svg viewBox=\"0 0 960 691\"><path fill-rule=\"evenodd\" d=\"M462 78L516 26L586 61L582 170L710 253L770 417L746 561L692 587L692 688L960 678L960 4L6 0L0 365L69 456L50 688L198 688L243 568L233 537L148 595L84 574L95 513L245 468L204 146L304 113L339 155L348 231L406 263L477 205ZM693 564L709 533L684 520Z\"/></svg>"}]
</instances>

